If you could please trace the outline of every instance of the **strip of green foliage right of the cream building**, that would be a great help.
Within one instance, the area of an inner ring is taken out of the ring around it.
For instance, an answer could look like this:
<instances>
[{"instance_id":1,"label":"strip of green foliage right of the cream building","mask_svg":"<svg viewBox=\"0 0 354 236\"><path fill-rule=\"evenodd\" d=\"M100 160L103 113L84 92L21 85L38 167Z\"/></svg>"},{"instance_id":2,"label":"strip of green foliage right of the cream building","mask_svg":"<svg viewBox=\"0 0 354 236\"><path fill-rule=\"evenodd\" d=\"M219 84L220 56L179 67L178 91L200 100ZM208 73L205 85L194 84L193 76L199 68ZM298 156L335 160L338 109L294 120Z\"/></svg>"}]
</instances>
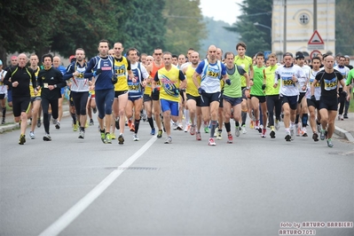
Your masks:
<instances>
[{"instance_id":1,"label":"strip of green foliage right of the cream building","mask_svg":"<svg viewBox=\"0 0 354 236\"><path fill-rule=\"evenodd\" d=\"M354 55L354 4L352 0L335 2L335 52Z\"/></svg>"}]
</instances>

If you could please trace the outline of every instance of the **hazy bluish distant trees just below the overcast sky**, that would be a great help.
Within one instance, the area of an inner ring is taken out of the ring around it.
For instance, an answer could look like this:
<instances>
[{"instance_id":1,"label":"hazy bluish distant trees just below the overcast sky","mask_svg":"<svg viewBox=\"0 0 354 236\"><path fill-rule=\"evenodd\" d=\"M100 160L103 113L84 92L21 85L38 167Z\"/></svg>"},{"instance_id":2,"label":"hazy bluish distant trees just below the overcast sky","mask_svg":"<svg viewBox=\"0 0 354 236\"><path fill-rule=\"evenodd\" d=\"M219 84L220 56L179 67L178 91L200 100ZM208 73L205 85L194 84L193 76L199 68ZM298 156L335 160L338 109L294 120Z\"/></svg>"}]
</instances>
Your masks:
<instances>
[{"instance_id":1,"label":"hazy bluish distant trees just below the overcast sky","mask_svg":"<svg viewBox=\"0 0 354 236\"><path fill-rule=\"evenodd\" d=\"M204 21L207 25L208 37L201 40L201 55L204 56L204 54L207 53L208 46L211 44L221 48L224 52L232 51L235 53L235 46L239 41L240 35L238 33L226 30L225 28L230 27L230 25L222 20L213 20L212 18L206 17L204 18Z\"/></svg>"}]
</instances>

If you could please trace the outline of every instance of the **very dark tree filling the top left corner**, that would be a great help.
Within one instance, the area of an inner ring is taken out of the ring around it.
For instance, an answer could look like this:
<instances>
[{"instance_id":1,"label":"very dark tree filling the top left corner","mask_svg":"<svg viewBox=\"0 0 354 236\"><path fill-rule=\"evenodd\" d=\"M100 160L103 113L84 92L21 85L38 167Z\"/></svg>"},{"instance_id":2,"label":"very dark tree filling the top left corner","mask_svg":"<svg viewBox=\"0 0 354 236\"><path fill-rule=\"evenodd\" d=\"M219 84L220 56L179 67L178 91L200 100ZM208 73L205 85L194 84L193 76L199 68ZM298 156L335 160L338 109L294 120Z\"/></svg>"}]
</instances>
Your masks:
<instances>
[{"instance_id":1,"label":"very dark tree filling the top left corner","mask_svg":"<svg viewBox=\"0 0 354 236\"><path fill-rule=\"evenodd\" d=\"M53 5L60 6L62 0L12 0L0 3L0 56L6 52L38 51L51 45L51 32L59 27L59 22L51 22L54 17ZM4 61L6 63L6 61Z\"/></svg>"}]
</instances>

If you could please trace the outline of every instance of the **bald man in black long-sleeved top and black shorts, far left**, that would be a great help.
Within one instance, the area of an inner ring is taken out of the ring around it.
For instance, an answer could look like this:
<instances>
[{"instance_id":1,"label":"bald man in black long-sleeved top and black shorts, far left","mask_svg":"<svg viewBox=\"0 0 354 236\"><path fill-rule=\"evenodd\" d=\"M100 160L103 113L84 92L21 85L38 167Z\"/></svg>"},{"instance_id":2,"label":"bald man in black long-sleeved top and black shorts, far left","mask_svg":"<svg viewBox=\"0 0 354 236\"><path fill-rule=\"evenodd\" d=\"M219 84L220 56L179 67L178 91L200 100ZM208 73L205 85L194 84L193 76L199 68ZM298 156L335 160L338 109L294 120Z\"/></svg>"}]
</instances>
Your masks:
<instances>
[{"instance_id":1,"label":"bald man in black long-sleeved top and black shorts, far left","mask_svg":"<svg viewBox=\"0 0 354 236\"><path fill-rule=\"evenodd\" d=\"M4 83L12 88L13 107L12 112L15 116L15 122L20 122L20 140L19 145L26 143L26 129L28 121L28 108L31 101L29 84L36 91L35 74L31 68L27 67L28 57L26 54L19 55L19 65L10 67L4 76Z\"/></svg>"}]
</instances>

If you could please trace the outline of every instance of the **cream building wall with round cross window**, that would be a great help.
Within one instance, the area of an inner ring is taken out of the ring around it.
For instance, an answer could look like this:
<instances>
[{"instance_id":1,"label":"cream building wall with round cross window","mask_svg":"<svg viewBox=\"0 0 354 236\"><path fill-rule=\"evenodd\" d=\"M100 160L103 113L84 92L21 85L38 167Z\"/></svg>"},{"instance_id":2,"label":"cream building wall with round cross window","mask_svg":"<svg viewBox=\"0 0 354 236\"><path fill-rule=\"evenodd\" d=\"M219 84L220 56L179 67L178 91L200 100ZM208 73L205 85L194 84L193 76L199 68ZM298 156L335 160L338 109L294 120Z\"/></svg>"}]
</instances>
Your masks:
<instances>
[{"instance_id":1,"label":"cream building wall with round cross window","mask_svg":"<svg viewBox=\"0 0 354 236\"><path fill-rule=\"evenodd\" d=\"M284 47L284 0L273 0L271 51L282 54ZM317 30L325 42L322 53L335 53L335 0L317 0ZM308 51L313 34L313 1L287 0L286 51Z\"/></svg>"}]
</instances>

